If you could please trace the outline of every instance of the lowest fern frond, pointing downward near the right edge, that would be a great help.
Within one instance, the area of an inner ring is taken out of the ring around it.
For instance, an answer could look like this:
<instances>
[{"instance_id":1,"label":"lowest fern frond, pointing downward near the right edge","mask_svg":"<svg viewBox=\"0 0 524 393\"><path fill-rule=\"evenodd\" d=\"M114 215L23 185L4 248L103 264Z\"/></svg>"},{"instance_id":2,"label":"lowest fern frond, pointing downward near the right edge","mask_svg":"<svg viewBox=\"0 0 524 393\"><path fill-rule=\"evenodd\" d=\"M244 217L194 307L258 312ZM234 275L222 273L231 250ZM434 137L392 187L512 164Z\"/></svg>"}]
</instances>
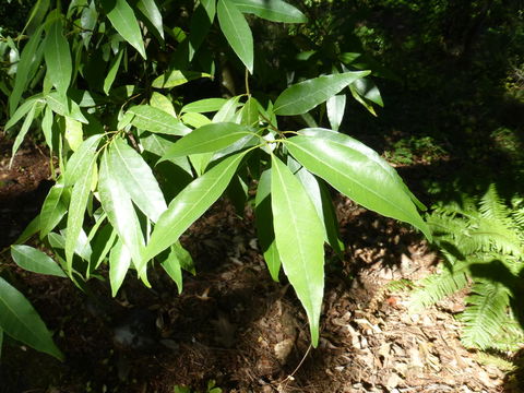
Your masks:
<instances>
[{"instance_id":1,"label":"lowest fern frond, pointing downward near the right edge","mask_svg":"<svg viewBox=\"0 0 524 393\"><path fill-rule=\"evenodd\" d=\"M508 288L498 282L477 281L466 302L467 308L460 317L464 323L462 343L469 348L491 347L495 337L499 340L502 335L504 321L508 319Z\"/></svg>"}]
</instances>

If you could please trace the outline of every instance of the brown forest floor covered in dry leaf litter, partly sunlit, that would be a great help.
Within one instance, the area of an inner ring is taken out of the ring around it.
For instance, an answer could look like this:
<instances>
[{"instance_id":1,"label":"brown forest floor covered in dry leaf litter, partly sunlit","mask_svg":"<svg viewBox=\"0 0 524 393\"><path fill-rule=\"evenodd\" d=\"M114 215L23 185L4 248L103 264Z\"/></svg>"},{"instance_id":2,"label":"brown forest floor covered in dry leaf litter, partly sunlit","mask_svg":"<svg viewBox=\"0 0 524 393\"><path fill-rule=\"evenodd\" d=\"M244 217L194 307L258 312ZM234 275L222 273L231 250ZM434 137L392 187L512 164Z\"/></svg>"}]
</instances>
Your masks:
<instances>
[{"instance_id":1,"label":"brown forest floor covered in dry leaf litter, partly sunlit","mask_svg":"<svg viewBox=\"0 0 524 393\"><path fill-rule=\"evenodd\" d=\"M24 146L10 169L10 145L0 141L0 159L3 248L37 214L49 181L36 146ZM252 211L242 217L223 200L181 239L198 274L184 276L180 295L155 269L151 289L130 275L116 298L103 279L86 295L68 279L19 270L3 252L0 273L33 302L66 361L5 338L0 392L524 391L511 359L461 345L454 314L464 294L408 310L407 281L438 262L421 235L347 199L335 204L346 252L327 253L315 349L293 288L271 281Z\"/></svg>"}]
</instances>

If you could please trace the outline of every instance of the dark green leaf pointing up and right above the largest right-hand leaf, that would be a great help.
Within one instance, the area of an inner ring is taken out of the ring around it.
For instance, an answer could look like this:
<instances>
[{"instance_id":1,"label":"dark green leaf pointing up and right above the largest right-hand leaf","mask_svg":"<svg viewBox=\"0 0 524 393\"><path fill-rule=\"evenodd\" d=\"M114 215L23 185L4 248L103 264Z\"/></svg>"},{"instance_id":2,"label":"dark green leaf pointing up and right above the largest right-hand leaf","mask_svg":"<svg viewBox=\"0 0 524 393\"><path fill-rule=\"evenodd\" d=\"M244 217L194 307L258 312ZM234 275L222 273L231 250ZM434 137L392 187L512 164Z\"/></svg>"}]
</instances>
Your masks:
<instances>
[{"instance_id":1,"label":"dark green leaf pointing up and right above the largest right-hand leaf","mask_svg":"<svg viewBox=\"0 0 524 393\"><path fill-rule=\"evenodd\" d=\"M337 94L370 71L323 75L287 87L276 98L274 112L281 116L302 115Z\"/></svg>"}]
</instances>

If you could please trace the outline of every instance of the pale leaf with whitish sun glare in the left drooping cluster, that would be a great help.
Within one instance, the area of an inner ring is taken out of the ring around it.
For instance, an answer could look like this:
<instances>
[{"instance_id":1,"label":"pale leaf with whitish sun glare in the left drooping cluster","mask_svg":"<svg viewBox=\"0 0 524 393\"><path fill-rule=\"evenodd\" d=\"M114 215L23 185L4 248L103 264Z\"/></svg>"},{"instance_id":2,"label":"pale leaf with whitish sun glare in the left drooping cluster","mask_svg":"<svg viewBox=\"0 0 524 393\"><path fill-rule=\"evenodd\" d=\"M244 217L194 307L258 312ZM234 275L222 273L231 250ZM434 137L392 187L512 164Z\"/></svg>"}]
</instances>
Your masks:
<instances>
[{"instance_id":1,"label":"pale leaf with whitish sun glare in the left drooping cluster","mask_svg":"<svg viewBox=\"0 0 524 393\"><path fill-rule=\"evenodd\" d=\"M144 236L131 196L114 170L112 159L109 157L112 154L105 151L100 160L98 180L100 203L109 223L131 253L133 262L140 265L142 249L145 245Z\"/></svg>"}]
</instances>

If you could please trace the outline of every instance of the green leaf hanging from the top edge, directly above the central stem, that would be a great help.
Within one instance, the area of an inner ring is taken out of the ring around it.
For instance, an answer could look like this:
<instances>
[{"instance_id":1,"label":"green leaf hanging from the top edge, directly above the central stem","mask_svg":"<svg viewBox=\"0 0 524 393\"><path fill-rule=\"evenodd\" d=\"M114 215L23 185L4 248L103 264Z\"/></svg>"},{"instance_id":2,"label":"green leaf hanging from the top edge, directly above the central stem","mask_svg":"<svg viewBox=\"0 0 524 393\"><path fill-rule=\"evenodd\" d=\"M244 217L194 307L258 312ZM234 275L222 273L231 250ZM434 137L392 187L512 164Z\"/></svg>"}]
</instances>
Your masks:
<instances>
[{"instance_id":1,"label":"green leaf hanging from the top edge, directly above the central stem","mask_svg":"<svg viewBox=\"0 0 524 393\"><path fill-rule=\"evenodd\" d=\"M227 41L249 72L253 73L253 35L233 0L218 0L217 15Z\"/></svg>"}]
</instances>

